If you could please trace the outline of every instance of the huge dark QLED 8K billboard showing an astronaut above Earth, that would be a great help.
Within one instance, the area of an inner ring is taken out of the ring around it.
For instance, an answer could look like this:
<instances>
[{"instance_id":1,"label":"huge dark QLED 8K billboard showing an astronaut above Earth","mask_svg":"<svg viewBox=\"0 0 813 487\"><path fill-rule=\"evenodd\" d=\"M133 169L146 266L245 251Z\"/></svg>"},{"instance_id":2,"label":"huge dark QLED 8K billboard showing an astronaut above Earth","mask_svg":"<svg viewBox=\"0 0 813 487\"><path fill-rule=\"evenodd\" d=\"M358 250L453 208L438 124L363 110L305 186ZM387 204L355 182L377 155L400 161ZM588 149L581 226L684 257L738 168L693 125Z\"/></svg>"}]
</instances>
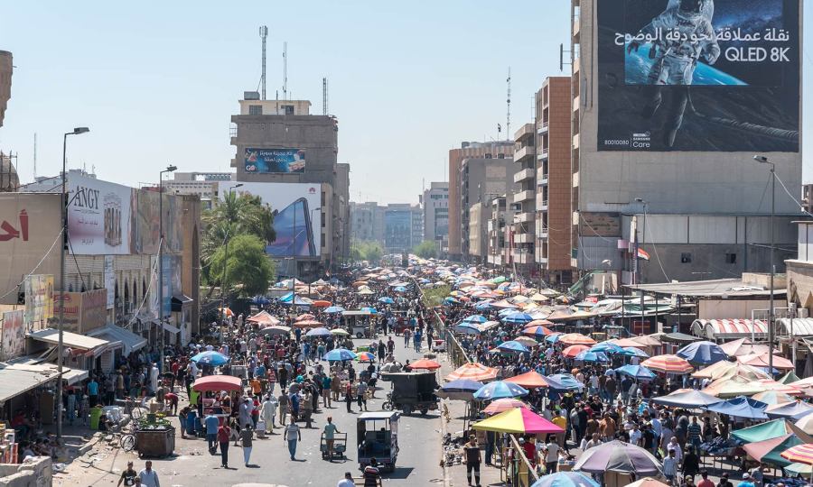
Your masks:
<instances>
[{"instance_id":1,"label":"huge dark QLED 8K billboard showing an astronaut above Earth","mask_svg":"<svg viewBox=\"0 0 813 487\"><path fill-rule=\"evenodd\" d=\"M799 152L799 0L596 4L599 151Z\"/></svg>"}]
</instances>

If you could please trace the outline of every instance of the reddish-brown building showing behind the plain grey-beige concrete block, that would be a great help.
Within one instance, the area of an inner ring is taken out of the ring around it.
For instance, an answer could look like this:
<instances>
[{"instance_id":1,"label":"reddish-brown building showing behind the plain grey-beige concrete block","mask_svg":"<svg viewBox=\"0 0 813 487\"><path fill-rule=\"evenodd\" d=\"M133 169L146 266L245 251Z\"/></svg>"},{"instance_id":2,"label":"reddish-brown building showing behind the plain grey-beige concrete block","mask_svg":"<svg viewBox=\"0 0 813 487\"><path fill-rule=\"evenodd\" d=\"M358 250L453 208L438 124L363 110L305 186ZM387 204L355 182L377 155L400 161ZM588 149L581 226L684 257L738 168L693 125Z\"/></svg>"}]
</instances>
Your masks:
<instances>
[{"instance_id":1,"label":"reddish-brown building showing behind the plain grey-beige concrete block","mask_svg":"<svg viewBox=\"0 0 813 487\"><path fill-rule=\"evenodd\" d=\"M461 181L460 167L466 158L506 158L514 153L513 141L462 142L460 149L449 151L449 257L460 259L463 242L463 213L460 207Z\"/></svg>"}]
</instances>

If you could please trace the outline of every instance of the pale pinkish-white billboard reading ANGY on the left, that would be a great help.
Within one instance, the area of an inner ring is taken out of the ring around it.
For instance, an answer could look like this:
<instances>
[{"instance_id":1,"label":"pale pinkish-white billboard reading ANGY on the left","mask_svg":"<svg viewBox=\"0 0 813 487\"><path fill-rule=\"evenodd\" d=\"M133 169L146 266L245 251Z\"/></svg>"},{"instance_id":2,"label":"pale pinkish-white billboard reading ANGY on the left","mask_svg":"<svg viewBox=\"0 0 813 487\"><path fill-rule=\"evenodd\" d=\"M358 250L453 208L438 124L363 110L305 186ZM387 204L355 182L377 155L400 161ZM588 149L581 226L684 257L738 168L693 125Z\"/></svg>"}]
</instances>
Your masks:
<instances>
[{"instance_id":1,"label":"pale pinkish-white billboard reading ANGY on the left","mask_svg":"<svg viewBox=\"0 0 813 487\"><path fill-rule=\"evenodd\" d=\"M68 235L76 254L130 253L133 189L71 174Z\"/></svg>"}]
</instances>

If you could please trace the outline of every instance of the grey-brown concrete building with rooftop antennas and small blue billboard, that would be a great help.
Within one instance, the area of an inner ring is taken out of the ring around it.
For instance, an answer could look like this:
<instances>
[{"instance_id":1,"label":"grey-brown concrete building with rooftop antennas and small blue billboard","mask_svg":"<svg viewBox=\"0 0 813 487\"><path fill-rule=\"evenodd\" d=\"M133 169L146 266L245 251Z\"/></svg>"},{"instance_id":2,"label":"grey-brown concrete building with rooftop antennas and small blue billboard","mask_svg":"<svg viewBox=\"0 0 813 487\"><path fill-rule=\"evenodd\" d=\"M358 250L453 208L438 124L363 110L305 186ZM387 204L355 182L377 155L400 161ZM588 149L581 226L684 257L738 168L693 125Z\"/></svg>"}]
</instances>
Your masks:
<instances>
[{"instance_id":1,"label":"grey-brown concrete building with rooftop antennas and small blue billboard","mask_svg":"<svg viewBox=\"0 0 813 487\"><path fill-rule=\"evenodd\" d=\"M297 256L295 269L286 271L319 274L350 252L350 167L336 161L338 121L311 115L307 100L260 100L257 92L246 92L239 105L239 115L231 117L237 181L322 185L319 226L325 238L319 256Z\"/></svg>"}]
</instances>

